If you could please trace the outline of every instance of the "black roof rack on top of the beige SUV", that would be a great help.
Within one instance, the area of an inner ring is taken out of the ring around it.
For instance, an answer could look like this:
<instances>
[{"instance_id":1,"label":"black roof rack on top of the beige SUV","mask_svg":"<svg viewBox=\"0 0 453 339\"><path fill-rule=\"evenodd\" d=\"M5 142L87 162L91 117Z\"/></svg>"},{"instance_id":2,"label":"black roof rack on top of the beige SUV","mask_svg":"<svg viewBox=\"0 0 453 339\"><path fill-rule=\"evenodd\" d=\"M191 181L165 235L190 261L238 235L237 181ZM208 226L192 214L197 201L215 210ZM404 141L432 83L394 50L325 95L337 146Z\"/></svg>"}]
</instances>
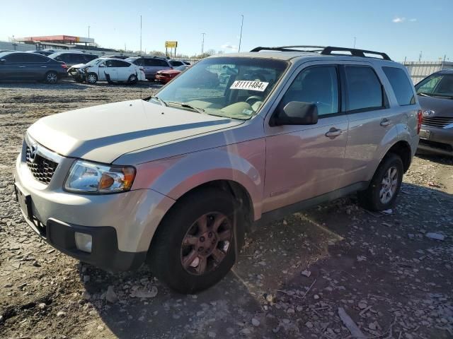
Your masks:
<instances>
[{"instance_id":1,"label":"black roof rack on top of the beige SUV","mask_svg":"<svg viewBox=\"0 0 453 339\"><path fill-rule=\"evenodd\" d=\"M299 48L299 49L295 49ZM301 49L310 49L310 50L301 50ZM350 52L352 57L362 57L362 58L374 58L369 57L365 54L374 54L379 55L384 60L391 60L390 57L384 52L374 52L368 51L366 49L356 49L356 48L347 48L347 47L332 47L332 46L309 46L309 45L299 45L299 46L281 46L281 47L256 47L250 52L260 52L260 51L280 51L280 52L319 52L323 55L345 55L338 54L334 52Z\"/></svg>"}]
</instances>

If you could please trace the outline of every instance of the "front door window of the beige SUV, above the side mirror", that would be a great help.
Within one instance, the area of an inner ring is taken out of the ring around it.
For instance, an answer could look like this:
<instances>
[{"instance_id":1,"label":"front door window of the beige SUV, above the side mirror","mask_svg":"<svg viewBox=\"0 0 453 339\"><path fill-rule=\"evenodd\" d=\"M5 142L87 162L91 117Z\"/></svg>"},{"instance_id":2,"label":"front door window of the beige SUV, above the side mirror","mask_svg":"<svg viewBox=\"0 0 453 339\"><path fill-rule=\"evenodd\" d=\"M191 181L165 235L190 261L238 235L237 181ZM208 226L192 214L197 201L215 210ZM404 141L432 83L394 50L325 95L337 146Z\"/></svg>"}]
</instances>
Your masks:
<instances>
[{"instance_id":1,"label":"front door window of the beige SUV, above the side mirror","mask_svg":"<svg viewBox=\"0 0 453 339\"><path fill-rule=\"evenodd\" d=\"M291 101L311 102L318 114L338 112L338 76L335 66L310 67L294 79L280 102L282 109Z\"/></svg>"}]
</instances>

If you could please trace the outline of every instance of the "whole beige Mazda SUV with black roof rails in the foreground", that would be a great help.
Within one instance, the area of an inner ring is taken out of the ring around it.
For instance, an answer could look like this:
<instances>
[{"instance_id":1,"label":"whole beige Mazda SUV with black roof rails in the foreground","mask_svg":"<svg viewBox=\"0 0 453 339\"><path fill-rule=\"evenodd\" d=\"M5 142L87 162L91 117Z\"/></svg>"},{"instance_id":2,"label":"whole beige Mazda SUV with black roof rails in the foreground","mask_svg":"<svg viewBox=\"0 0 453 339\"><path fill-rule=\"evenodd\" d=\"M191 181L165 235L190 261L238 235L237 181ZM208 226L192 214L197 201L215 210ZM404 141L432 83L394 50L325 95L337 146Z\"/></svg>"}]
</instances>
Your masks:
<instances>
[{"instance_id":1,"label":"whole beige Mazda SUV with black roof rails in the foreground","mask_svg":"<svg viewBox=\"0 0 453 339\"><path fill-rule=\"evenodd\" d=\"M390 208L420 124L406 69L384 53L258 47L203 59L146 100L35 122L16 193L60 251L112 270L146 262L196 292L229 272L253 223L355 191Z\"/></svg>"}]
</instances>

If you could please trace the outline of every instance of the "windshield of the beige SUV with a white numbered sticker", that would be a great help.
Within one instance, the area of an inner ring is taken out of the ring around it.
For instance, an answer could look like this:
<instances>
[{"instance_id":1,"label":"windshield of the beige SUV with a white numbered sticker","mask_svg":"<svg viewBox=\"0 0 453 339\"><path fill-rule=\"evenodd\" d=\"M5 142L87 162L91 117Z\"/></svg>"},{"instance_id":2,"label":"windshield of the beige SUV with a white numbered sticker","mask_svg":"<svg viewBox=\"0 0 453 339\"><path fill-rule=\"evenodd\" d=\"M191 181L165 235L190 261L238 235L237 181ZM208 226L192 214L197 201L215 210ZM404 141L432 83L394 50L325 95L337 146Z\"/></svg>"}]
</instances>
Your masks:
<instances>
[{"instance_id":1,"label":"windshield of the beige SUV with a white numbered sticker","mask_svg":"<svg viewBox=\"0 0 453 339\"><path fill-rule=\"evenodd\" d=\"M286 61L274 59L204 59L181 73L156 96L168 106L250 119L259 111L287 66Z\"/></svg>"}]
</instances>

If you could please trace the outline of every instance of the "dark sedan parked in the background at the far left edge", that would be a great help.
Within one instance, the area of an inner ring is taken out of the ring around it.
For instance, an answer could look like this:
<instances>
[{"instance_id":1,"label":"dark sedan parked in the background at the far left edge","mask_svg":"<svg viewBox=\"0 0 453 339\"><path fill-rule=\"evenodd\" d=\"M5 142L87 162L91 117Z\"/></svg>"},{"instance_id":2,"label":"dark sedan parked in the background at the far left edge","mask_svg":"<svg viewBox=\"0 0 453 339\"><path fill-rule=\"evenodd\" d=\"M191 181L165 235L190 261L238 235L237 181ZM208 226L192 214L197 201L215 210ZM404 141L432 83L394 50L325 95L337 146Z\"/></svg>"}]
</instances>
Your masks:
<instances>
[{"instance_id":1,"label":"dark sedan parked in the background at the far left edge","mask_svg":"<svg viewBox=\"0 0 453 339\"><path fill-rule=\"evenodd\" d=\"M36 80L57 83L67 76L62 61L27 52L0 53L0 80Z\"/></svg>"}]
</instances>

